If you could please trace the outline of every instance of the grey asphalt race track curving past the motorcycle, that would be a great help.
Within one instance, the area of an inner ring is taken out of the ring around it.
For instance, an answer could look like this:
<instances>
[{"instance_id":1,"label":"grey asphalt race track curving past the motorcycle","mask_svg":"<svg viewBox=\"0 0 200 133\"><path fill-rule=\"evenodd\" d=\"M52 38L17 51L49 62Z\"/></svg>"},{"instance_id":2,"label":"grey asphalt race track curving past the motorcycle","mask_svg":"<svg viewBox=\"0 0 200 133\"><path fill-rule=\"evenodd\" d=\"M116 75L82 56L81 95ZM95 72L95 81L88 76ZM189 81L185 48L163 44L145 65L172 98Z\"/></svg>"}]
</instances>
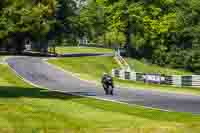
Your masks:
<instances>
[{"instance_id":1,"label":"grey asphalt race track curving past the motorcycle","mask_svg":"<svg viewBox=\"0 0 200 133\"><path fill-rule=\"evenodd\" d=\"M200 96L134 88L115 88L114 96L107 96L101 87L63 72L39 57L12 57L7 59L7 63L26 80L52 91L97 97L162 110L200 114Z\"/></svg>"}]
</instances>

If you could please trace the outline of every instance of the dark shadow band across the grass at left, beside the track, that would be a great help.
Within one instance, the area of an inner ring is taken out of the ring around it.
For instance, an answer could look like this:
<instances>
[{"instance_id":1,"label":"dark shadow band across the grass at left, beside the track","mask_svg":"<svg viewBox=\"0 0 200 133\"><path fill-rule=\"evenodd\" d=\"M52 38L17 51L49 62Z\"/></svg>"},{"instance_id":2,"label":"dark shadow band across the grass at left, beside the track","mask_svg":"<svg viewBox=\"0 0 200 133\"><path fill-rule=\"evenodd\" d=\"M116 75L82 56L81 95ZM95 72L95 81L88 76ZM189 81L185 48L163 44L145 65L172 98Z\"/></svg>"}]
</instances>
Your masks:
<instances>
[{"instance_id":1,"label":"dark shadow band across the grass at left, beside the track","mask_svg":"<svg viewBox=\"0 0 200 133\"><path fill-rule=\"evenodd\" d=\"M40 88L0 86L0 98L18 98L18 97L62 99L62 100L81 98L80 96L73 96L68 93L49 91Z\"/></svg>"}]
</instances>

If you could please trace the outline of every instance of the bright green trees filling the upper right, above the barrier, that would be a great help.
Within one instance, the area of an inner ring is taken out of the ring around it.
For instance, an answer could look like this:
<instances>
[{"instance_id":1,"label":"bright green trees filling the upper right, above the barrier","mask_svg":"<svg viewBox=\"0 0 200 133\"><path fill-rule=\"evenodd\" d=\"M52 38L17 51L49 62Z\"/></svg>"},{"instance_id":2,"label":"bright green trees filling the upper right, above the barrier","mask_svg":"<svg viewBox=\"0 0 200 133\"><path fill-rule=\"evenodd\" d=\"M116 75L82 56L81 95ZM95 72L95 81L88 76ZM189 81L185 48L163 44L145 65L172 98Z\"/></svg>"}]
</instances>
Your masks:
<instances>
[{"instance_id":1,"label":"bright green trees filling the upper right, above the barrier","mask_svg":"<svg viewBox=\"0 0 200 133\"><path fill-rule=\"evenodd\" d=\"M105 45L126 45L130 32L132 56L199 72L199 7L199 0L88 0L80 25Z\"/></svg>"}]
</instances>

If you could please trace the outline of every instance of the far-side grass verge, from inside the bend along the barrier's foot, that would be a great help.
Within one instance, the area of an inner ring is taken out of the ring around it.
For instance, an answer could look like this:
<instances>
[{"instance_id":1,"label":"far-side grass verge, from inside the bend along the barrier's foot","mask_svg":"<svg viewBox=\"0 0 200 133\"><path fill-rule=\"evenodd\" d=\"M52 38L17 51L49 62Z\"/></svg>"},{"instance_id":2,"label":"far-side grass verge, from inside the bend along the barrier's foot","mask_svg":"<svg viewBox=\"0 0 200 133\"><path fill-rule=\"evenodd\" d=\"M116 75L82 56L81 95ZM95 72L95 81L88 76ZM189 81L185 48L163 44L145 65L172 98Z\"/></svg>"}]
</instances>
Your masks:
<instances>
[{"instance_id":1,"label":"far-side grass verge, from inside the bend along the barrier's foot","mask_svg":"<svg viewBox=\"0 0 200 133\"><path fill-rule=\"evenodd\" d=\"M110 73L113 68L119 68L113 57L62 58L49 60L48 62L57 65L67 71L71 71L82 79L93 80L98 84L100 84L100 78L103 72ZM167 85L144 84L142 82L124 81L118 79L115 79L115 83L120 86L137 89L150 89L164 92L200 95L200 89L198 88L180 88Z\"/></svg>"}]
</instances>

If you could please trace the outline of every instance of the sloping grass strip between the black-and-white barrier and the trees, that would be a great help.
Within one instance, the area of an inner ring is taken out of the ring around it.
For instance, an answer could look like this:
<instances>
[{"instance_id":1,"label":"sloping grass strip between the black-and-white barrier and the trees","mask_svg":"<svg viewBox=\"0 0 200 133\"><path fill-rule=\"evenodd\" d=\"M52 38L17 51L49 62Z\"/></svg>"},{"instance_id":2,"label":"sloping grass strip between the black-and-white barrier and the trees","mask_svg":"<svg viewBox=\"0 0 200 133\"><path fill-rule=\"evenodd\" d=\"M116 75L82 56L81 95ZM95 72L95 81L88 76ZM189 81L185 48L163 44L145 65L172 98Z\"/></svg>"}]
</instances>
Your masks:
<instances>
[{"instance_id":1,"label":"sloping grass strip between the black-and-white barrier and the trees","mask_svg":"<svg viewBox=\"0 0 200 133\"><path fill-rule=\"evenodd\" d=\"M135 70L136 72L143 72L143 73L159 73L165 75L191 75L191 72L184 71L184 70L177 70L172 68L164 68L157 65L150 65L145 64L142 61L128 58L126 59L130 67Z\"/></svg>"}]
</instances>

